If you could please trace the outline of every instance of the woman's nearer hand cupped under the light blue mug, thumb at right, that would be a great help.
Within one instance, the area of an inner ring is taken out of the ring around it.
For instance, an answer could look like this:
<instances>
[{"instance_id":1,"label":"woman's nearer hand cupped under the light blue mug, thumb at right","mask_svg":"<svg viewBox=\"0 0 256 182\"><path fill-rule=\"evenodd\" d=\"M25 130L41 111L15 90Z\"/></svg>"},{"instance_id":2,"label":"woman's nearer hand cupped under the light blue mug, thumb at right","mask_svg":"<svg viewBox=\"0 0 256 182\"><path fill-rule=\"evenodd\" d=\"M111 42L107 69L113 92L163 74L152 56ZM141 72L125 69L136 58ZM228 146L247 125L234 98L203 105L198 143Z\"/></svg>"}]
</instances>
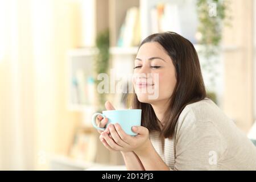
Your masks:
<instances>
[{"instance_id":1,"label":"woman's nearer hand cupped under the light blue mug, thumb at right","mask_svg":"<svg viewBox=\"0 0 256 182\"><path fill-rule=\"evenodd\" d=\"M114 125L110 124L108 128L101 133L100 140L109 150L122 152L134 151L135 153L147 150L151 142L146 127L133 126L132 130L138 135L132 137L127 135L118 123ZM109 137L109 134L111 137Z\"/></svg>"}]
</instances>

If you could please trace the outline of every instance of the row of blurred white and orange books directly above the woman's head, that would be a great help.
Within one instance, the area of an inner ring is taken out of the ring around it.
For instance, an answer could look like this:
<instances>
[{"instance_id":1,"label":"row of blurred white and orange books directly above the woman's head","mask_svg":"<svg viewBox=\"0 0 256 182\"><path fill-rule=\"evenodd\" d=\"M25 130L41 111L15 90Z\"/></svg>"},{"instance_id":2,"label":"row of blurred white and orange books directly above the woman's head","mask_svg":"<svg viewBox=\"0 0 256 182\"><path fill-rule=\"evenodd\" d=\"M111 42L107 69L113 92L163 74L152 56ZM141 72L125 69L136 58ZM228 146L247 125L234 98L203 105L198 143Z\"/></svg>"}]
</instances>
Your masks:
<instances>
[{"instance_id":1,"label":"row of blurred white and orange books directly above the woman's head","mask_svg":"<svg viewBox=\"0 0 256 182\"><path fill-rule=\"evenodd\" d=\"M199 23L196 14L196 2L188 3L166 2L156 3L148 12L148 34L173 31L197 43L196 32Z\"/></svg>"}]
</instances>

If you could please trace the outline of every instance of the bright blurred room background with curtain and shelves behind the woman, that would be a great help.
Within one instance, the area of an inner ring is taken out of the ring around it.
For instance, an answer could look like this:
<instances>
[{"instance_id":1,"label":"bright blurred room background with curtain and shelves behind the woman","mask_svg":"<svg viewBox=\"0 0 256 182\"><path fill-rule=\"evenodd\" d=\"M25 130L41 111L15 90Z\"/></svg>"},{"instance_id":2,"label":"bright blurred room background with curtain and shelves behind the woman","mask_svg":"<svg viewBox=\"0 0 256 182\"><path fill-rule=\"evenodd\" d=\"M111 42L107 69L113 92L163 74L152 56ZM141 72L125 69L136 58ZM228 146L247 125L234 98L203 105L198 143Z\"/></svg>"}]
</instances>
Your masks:
<instances>
[{"instance_id":1,"label":"bright blurred room background with curtain and shelves behind the woman","mask_svg":"<svg viewBox=\"0 0 256 182\"><path fill-rule=\"evenodd\" d=\"M97 75L132 73L155 32L195 45L208 96L255 137L255 27L254 0L0 0L0 169L122 165L90 116L129 94L97 93Z\"/></svg>"}]
</instances>

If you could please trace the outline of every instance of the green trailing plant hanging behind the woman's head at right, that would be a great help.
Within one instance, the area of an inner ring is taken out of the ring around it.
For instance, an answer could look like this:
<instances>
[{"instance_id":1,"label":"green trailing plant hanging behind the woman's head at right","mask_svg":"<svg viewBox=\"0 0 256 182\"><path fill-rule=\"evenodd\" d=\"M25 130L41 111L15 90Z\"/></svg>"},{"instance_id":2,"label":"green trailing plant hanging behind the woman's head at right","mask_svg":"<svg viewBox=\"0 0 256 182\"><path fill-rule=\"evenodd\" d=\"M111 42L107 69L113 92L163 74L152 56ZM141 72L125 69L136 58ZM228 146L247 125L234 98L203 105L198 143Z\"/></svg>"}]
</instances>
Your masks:
<instances>
[{"instance_id":1,"label":"green trailing plant hanging behind the woman's head at right","mask_svg":"<svg viewBox=\"0 0 256 182\"><path fill-rule=\"evenodd\" d=\"M202 49L199 52L204 56L207 63L202 64L202 68L209 74L209 81L212 88L216 87L215 77L217 75L214 65L218 63L216 55L220 52L222 38L222 28L228 24L227 0L197 0L197 15L199 26L197 38ZM207 96L217 104L217 96L213 89L207 88Z\"/></svg>"}]
</instances>

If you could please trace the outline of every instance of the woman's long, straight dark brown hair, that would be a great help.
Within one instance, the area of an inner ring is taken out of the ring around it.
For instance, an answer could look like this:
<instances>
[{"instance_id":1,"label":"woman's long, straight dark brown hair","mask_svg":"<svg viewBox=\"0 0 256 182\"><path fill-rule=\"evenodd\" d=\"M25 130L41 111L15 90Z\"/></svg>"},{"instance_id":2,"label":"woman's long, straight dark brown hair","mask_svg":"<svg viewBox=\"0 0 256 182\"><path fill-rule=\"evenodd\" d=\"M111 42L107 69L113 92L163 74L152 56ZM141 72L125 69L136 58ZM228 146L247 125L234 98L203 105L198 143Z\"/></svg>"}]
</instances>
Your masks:
<instances>
[{"instance_id":1,"label":"woman's long, straight dark brown hair","mask_svg":"<svg viewBox=\"0 0 256 182\"><path fill-rule=\"evenodd\" d=\"M150 104L139 102L133 95L132 108L142 109L142 126L149 131L160 131L160 136L172 138L181 111L188 104L206 97L203 76L196 49L189 40L175 32L152 34L143 40L139 48L148 42L158 42L171 57L176 71L176 85L170 98L170 105L164 114L164 127L160 129L159 120Z\"/></svg>"}]
</instances>

